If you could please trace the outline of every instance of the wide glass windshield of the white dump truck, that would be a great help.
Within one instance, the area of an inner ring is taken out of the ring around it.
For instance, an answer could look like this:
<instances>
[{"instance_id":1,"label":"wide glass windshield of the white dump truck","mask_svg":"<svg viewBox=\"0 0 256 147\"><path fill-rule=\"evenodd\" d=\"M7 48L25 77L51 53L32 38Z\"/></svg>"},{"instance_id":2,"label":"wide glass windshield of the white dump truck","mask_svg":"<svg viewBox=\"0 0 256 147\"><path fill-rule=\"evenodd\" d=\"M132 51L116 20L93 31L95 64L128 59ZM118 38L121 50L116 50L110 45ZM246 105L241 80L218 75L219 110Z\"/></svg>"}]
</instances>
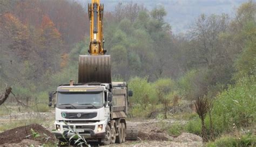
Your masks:
<instances>
[{"instance_id":1,"label":"wide glass windshield of the white dump truck","mask_svg":"<svg viewBox=\"0 0 256 147\"><path fill-rule=\"evenodd\" d=\"M103 92L59 92L57 96L57 108L59 109L98 109L103 107L103 103Z\"/></svg>"}]
</instances>

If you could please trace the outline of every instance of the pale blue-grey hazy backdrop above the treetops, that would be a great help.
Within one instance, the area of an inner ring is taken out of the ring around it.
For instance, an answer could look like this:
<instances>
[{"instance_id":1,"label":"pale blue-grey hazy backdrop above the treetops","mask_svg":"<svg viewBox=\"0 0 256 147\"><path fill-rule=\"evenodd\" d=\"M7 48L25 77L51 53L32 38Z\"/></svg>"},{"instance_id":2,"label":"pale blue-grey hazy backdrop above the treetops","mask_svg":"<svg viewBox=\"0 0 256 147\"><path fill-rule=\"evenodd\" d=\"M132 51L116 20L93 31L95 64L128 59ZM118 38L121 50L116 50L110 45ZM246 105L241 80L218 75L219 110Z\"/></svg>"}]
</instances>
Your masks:
<instances>
[{"instance_id":1,"label":"pale blue-grey hazy backdrop above the treetops","mask_svg":"<svg viewBox=\"0 0 256 147\"><path fill-rule=\"evenodd\" d=\"M82 5L86 6L91 0L76 0ZM118 3L139 3L151 10L157 5L163 5L167 11L165 20L171 24L173 33L186 32L196 18L205 13L210 15L212 13L221 14L227 13L231 17L234 16L235 8L247 0L101 0L104 3L106 11L112 11L114 6Z\"/></svg>"}]
</instances>

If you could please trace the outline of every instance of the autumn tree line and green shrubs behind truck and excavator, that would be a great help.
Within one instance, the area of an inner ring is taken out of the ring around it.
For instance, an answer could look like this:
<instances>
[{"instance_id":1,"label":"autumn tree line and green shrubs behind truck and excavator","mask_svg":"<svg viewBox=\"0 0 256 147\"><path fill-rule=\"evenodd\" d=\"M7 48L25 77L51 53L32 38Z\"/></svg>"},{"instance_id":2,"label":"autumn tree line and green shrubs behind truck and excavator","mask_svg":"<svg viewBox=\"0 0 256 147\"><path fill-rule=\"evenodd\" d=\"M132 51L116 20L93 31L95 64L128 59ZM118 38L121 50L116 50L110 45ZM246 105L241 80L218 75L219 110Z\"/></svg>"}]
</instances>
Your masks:
<instances>
[{"instance_id":1,"label":"autumn tree line and green shrubs behind truck and excavator","mask_svg":"<svg viewBox=\"0 0 256 147\"><path fill-rule=\"evenodd\" d=\"M232 128L233 122L254 124L255 2L241 4L235 16L202 14L184 34L172 32L166 14L161 6L147 10L136 3L119 3L104 13L113 79L134 89L131 114L163 110L166 118L179 100L200 98L213 101L212 118L201 117L206 126L212 120L213 134ZM12 85L22 100L47 101L48 91L77 80L78 55L89 47L87 10L80 4L3 0L0 32L1 87ZM198 119L187 128L197 134L194 124L200 124Z\"/></svg>"}]
</instances>

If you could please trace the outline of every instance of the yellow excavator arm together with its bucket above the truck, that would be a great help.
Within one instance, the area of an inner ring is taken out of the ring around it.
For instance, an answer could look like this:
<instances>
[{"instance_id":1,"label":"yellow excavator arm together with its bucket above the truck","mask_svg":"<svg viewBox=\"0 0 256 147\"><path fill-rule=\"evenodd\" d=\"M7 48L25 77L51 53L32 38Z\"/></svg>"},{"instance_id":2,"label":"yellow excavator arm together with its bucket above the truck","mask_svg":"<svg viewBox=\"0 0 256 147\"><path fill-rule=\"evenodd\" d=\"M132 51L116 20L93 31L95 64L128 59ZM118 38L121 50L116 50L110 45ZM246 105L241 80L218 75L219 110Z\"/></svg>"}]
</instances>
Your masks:
<instances>
[{"instance_id":1,"label":"yellow excavator arm together with its bucket above the truck","mask_svg":"<svg viewBox=\"0 0 256 147\"><path fill-rule=\"evenodd\" d=\"M90 20L89 55L79 55L78 83L111 83L110 55L105 55L103 39L104 5L99 0L88 4Z\"/></svg>"}]
</instances>

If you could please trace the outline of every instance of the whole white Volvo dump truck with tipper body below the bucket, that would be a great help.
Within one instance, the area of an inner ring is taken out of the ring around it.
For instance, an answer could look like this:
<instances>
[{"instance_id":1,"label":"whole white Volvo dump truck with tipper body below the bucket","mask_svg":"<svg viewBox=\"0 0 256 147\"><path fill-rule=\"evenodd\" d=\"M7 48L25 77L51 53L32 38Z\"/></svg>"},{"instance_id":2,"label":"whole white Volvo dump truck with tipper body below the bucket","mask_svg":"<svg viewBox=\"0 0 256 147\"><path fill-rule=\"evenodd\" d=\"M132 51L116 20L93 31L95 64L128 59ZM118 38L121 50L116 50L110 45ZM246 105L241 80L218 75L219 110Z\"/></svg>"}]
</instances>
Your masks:
<instances>
[{"instance_id":1,"label":"whole white Volvo dump truck with tipper body below the bucket","mask_svg":"<svg viewBox=\"0 0 256 147\"><path fill-rule=\"evenodd\" d=\"M60 141L64 137L69 139L72 130L88 140L109 139L105 144L124 142L127 97L132 96L126 82L60 85L49 95L50 106L53 93L56 98L54 134Z\"/></svg>"}]
</instances>

